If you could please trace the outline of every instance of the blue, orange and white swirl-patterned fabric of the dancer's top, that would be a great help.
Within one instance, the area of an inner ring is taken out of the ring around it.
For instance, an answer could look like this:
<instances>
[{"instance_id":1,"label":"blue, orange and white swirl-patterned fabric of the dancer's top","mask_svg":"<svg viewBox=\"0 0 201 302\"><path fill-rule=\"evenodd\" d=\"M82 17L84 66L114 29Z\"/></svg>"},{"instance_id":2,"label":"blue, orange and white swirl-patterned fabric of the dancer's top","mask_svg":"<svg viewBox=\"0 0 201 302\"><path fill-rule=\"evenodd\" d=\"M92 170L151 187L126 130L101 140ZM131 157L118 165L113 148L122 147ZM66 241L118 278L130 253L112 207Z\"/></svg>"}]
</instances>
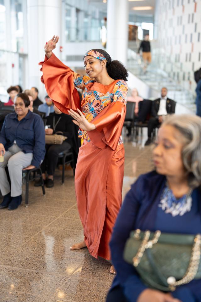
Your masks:
<instances>
[{"instance_id":1,"label":"blue, orange and white swirl-patterned fabric of the dancer's top","mask_svg":"<svg viewBox=\"0 0 201 302\"><path fill-rule=\"evenodd\" d=\"M113 92L106 92L105 94L95 90L90 90L90 83L94 82L95 80L90 79L88 76L81 76L74 73L75 87L84 90L81 101L81 109L85 118L89 122L92 121L104 108L106 108L106 106L112 102L123 102L126 105L126 95L128 92L128 86L123 80L119 80L115 83ZM90 137L88 136L87 131L79 129L78 133L79 137L90 142ZM122 143L122 136L120 136L118 145Z\"/></svg>"}]
</instances>

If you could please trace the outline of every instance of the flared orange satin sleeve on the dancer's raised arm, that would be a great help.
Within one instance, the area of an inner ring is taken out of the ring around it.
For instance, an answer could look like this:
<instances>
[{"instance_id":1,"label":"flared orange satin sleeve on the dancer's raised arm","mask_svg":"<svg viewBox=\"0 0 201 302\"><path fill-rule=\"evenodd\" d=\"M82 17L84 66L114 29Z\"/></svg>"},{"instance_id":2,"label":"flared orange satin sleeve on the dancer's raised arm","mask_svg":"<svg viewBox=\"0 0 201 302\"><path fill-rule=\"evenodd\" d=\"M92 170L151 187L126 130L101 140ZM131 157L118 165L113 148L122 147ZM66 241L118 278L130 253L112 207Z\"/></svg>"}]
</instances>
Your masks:
<instances>
[{"instance_id":1,"label":"flared orange satin sleeve on the dancer's raised arm","mask_svg":"<svg viewBox=\"0 0 201 302\"><path fill-rule=\"evenodd\" d=\"M40 70L43 72L41 81L57 108L67 114L69 109L81 110L73 70L64 65L53 53L49 59L45 56L44 62L40 62L39 65L42 65Z\"/></svg>"}]
</instances>

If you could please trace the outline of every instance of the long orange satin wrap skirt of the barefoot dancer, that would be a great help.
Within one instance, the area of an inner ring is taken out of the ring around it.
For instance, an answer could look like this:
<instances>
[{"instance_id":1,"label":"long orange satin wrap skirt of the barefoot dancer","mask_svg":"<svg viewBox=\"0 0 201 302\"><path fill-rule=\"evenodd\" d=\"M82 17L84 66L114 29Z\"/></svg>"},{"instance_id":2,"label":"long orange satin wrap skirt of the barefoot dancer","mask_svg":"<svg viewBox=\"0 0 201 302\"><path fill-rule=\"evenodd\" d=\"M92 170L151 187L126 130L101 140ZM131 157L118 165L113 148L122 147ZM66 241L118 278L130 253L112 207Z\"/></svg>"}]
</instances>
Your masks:
<instances>
[{"instance_id":1,"label":"long orange satin wrap skirt of the barefoot dancer","mask_svg":"<svg viewBox=\"0 0 201 302\"><path fill-rule=\"evenodd\" d=\"M122 205L124 147L114 151L84 141L75 171L78 211L92 256L111 260L109 242Z\"/></svg>"}]
</instances>

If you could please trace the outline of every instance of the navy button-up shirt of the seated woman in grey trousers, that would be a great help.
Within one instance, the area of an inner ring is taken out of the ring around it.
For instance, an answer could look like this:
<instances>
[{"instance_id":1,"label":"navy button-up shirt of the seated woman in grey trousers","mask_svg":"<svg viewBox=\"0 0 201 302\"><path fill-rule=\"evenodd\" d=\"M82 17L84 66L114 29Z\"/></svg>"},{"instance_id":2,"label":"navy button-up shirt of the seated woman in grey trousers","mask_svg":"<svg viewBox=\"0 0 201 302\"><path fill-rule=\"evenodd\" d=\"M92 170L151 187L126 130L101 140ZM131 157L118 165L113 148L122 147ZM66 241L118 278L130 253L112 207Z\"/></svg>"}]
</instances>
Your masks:
<instances>
[{"instance_id":1,"label":"navy button-up shirt of the seated woman in grey trousers","mask_svg":"<svg viewBox=\"0 0 201 302\"><path fill-rule=\"evenodd\" d=\"M39 167L45 156L45 129L41 117L30 110L20 121L16 113L6 115L0 133L0 143L7 151L14 140L24 153L33 153L31 165Z\"/></svg>"}]
</instances>

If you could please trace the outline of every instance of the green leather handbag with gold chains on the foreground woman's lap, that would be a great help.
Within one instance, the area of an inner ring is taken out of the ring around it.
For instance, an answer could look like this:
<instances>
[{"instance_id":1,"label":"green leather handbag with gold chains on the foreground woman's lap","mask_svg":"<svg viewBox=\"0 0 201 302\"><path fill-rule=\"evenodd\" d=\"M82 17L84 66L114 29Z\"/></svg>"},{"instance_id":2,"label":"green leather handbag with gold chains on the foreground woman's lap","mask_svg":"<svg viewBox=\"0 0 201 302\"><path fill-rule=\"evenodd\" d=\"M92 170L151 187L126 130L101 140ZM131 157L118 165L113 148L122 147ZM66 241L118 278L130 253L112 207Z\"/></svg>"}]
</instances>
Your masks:
<instances>
[{"instance_id":1,"label":"green leather handbag with gold chains on the foreground woman's lap","mask_svg":"<svg viewBox=\"0 0 201 302\"><path fill-rule=\"evenodd\" d=\"M160 231L132 231L123 258L142 281L160 291L201 279L201 234L183 235Z\"/></svg>"}]
</instances>

